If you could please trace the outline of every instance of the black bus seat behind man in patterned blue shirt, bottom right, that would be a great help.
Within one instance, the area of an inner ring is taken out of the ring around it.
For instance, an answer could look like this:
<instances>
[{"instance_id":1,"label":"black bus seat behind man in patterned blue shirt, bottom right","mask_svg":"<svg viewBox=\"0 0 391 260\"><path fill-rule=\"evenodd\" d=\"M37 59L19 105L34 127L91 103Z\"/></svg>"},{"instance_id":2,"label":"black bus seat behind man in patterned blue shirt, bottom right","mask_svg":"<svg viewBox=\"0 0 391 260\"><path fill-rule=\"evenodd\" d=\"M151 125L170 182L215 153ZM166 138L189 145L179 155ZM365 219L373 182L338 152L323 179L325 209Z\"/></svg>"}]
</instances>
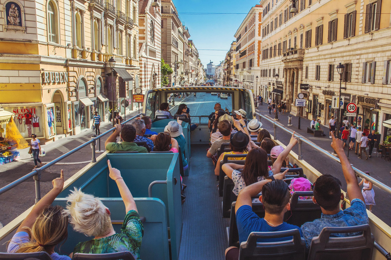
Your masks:
<instances>
[{"instance_id":1,"label":"black bus seat behind man in patterned blue shirt, bottom right","mask_svg":"<svg viewBox=\"0 0 391 260\"><path fill-rule=\"evenodd\" d=\"M336 233L362 232L353 237L330 237ZM374 236L368 224L323 228L318 237L312 239L308 259L372 259Z\"/></svg>"}]
</instances>

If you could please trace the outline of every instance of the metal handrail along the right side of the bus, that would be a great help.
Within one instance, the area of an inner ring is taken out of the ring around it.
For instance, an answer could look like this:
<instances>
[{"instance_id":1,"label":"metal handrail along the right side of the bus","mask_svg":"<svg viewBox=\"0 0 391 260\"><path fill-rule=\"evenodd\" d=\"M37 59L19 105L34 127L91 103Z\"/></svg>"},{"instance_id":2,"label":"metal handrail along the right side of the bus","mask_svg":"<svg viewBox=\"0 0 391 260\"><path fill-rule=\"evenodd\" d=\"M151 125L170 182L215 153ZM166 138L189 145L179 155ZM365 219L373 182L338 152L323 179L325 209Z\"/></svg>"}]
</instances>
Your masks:
<instances>
[{"instance_id":1,"label":"metal handrail along the right side of the bus","mask_svg":"<svg viewBox=\"0 0 391 260\"><path fill-rule=\"evenodd\" d=\"M264 118L264 119L268 120L269 122L271 122L271 123L273 124L273 127L274 127L274 140L276 140L276 137L277 137L277 133L276 133L276 128L277 128L277 127L280 127L280 128L283 129L285 132L287 132L287 133L289 133L289 134L291 134L291 135L293 134L292 131L289 131L287 128L285 128L284 126L278 124L278 123L275 122L274 120L271 120L271 119L267 118L266 116L261 115L260 113L257 113L257 112L256 112L255 114L257 114L257 115L260 116L261 118ZM312 148L317 149L317 150L320 151L322 154L328 156L329 158L331 158L331 159L333 159L333 160L335 160L335 161L338 161L338 163L341 163L341 160L340 160L338 157L332 155L330 152L324 150L323 148L321 148L321 147L319 147L319 146L317 146L317 145L312 144L310 141L305 140L304 138L302 138L302 136L298 136L297 134L296 134L295 136L296 136L297 139L298 139L298 145L299 145L298 157L299 157L299 160L301 160L302 157L303 157L302 151L301 151L301 143L304 142L304 143L310 145ZM390 187L388 187L388 186L385 185L384 183L382 183L382 182L380 182L380 181L374 179L373 177L369 176L368 174L366 174L366 173L364 173L364 172L358 170L357 168L355 168L355 167L353 167L353 166L352 166L352 168L353 168L354 172L355 172L358 176L360 176L361 178L366 179L366 180L372 182L373 185L375 185L375 186L377 186L378 188L380 188L380 189L386 191L387 193L391 194L391 188L390 188Z\"/></svg>"}]
</instances>

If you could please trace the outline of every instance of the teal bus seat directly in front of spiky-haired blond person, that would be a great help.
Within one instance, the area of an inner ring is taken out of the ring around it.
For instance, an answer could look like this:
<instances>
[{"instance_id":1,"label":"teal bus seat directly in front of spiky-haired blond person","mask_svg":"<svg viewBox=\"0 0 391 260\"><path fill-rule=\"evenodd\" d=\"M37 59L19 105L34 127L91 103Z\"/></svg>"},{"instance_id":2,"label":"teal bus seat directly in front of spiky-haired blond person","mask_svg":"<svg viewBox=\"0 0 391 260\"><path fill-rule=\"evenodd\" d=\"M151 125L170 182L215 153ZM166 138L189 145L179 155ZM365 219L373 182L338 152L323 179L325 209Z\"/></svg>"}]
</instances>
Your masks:
<instances>
[{"instance_id":1,"label":"teal bus seat directly in front of spiky-haired blond person","mask_svg":"<svg viewBox=\"0 0 391 260\"><path fill-rule=\"evenodd\" d=\"M180 197L180 196L179 196ZM121 198L99 198L102 203L110 209L111 222L116 233L121 232L123 219L125 218L125 204ZM134 198L137 211L140 216L145 217L143 223L144 236L140 249L140 259L170 259L169 233L167 231L166 205L156 198ZM179 198L180 201L180 198ZM66 206L66 198L57 198L53 205ZM113 219L120 219L119 221ZM172 230L171 232L174 232ZM175 232L174 232L175 233ZM173 233L171 234L173 236ZM78 242L91 240L93 237L86 237L84 234L75 232L71 225L68 225L68 239L61 246L62 253L69 254L73 251ZM172 237L173 239L173 237ZM117 257L118 259L121 257ZM77 258L81 259L81 258ZM91 259L91 258L90 258ZM100 259L100 258L94 258ZM106 258L104 258L106 259ZM110 259L110 258L109 258Z\"/></svg>"}]
</instances>

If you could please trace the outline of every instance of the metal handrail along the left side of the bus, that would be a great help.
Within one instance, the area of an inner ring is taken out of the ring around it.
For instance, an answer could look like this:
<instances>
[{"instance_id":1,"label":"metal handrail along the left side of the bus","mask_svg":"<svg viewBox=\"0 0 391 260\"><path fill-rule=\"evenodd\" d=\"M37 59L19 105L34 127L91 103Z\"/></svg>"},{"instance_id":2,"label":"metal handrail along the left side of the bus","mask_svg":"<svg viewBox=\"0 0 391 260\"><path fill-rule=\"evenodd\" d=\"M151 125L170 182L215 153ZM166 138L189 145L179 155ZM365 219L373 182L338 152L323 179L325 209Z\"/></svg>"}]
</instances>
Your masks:
<instances>
[{"instance_id":1,"label":"metal handrail along the left side of the bus","mask_svg":"<svg viewBox=\"0 0 391 260\"><path fill-rule=\"evenodd\" d=\"M132 118L130 118L130 119L128 119L128 120L122 122L121 124L125 124L125 123L127 123L128 121L130 121L130 120L132 120L132 119L134 119L134 118L136 118L136 117L138 117L138 116L140 116L140 115L144 115L144 114L143 114L143 113L140 113L140 114L138 114L138 115L136 115L136 116L133 116ZM31 178L31 177L34 177L35 189L36 189L36 190L35 190L35 193L36 193L35 202L37 203L37 202L41 199L40 180L41 180L41 172L42 172L43 170L45 170L45 169L49 168L50 166L52 166L52 165L58 163L58 162L61 161L62 159L68 157L69 155L71 155L71 154L77 152L78 150L80 150L80 149L86 147L86 146L89 145L89 144L92 144L92 159L91 159L91 162L92 162L92 163L95 163L95 162L96 162L96 158L95 158L95 142L96 142L96 140L98 140L98 139L100 139L101 137L103 137L103 136L107 135L108 133L112 132L114 129L115 129L115 127L110 128L109 130L107 130L107 131L104 132L103 134L101 134L101 135L99 135L99 136L97 136L97 137L92 138L90 141L88 141L88 142L86 142L86 143L84 143L84 144L82 144L82 145L79 145L78 147L76 147L76 148L70 150L69 152L67 152L67 153L65 153L65 154L63 154L63 155L61 155L60 157L55 158L54 160L50 161L50 162L47 163L46 165L44 165L44 166L42 166L42 167L40 167L40 168L38 168L38 169L32 171L31 173L28 173L28 174L26 174L26 175L20 177L19 179L17 179L17 180L15 180L15 181L11 182L10 184L4 186L3 188L0 188L0 195L3 194L3 193L6 192L6 191L12 189L13 187L19 185L19 184L22 183L23 181L25 181L25 180L27 180L27 179L29 179L29 178Z\"/></svg>"}]
</instances>

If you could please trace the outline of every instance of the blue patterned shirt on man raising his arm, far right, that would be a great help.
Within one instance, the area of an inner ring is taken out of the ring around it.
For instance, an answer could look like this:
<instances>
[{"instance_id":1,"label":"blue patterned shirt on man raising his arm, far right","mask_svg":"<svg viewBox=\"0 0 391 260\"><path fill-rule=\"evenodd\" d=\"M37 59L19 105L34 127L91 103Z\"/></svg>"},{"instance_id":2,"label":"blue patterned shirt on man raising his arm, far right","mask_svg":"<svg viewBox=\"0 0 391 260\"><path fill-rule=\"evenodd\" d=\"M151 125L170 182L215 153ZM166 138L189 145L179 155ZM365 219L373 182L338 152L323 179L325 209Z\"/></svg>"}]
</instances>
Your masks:
<instances>
[{"instance_id":1,"label":"blue patterned shirt on man raising his arm, far right","mask_svg":"<svg viewBox=\"0 0 391 260\"><path fill-rule=\"evenodd\" d=\"M360 199L353 199L351 206L346 210L341 210L334 215L325 215L312 222L306 222L301 226L301 231L305 239L305 246L310 249L313 237L319 236L320 232L326 226L355 226L368 224L369 219L365 204ZM332 234L332 237L351 237L360 233L339 233Z\"/></svg>"}]
</instances>

